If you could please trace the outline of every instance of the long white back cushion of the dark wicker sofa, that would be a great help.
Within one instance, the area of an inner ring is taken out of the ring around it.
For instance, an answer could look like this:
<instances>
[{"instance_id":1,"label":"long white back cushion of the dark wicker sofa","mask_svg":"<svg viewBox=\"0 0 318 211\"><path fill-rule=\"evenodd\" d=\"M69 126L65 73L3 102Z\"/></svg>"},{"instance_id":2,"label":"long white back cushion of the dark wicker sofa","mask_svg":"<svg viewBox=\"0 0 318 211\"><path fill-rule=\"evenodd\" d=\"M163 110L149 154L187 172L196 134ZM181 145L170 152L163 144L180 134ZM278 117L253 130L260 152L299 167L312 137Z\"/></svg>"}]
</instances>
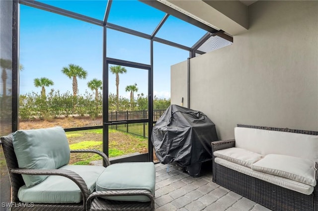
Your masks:
<instances>
[{"instance_id":1,"label":"long white back cushion of the dark wicker sofa","mask_svg":"<svg viewBox=\"0 0 318 211\"><path fill-rule=\"evenodd\" d=\"M235 146L261 155L278 154L318 161L318 136L235 128Z\"/></svg>"}]
</instances>

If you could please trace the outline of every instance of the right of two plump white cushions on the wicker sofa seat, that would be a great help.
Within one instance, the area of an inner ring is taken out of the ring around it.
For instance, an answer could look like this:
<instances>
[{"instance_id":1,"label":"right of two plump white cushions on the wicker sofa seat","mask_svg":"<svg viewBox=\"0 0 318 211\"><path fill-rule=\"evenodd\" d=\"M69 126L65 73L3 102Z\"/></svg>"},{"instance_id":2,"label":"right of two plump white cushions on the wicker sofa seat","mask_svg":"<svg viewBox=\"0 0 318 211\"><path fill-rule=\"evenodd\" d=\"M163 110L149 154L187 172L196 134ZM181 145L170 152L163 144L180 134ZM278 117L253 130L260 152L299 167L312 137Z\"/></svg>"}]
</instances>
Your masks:
<instances>
[{"instance_id":1,"label":"right of two plump white cushions on the wicker sofa seat","mask_svg":"<svg viewBox=\"0 0 318 211\"><path fill-rule=\"evenodd\" d=\"M309 159L269 154L253 163L251 168L316 186L315 164L315 161Z\"/></svg>"}]
</instances>

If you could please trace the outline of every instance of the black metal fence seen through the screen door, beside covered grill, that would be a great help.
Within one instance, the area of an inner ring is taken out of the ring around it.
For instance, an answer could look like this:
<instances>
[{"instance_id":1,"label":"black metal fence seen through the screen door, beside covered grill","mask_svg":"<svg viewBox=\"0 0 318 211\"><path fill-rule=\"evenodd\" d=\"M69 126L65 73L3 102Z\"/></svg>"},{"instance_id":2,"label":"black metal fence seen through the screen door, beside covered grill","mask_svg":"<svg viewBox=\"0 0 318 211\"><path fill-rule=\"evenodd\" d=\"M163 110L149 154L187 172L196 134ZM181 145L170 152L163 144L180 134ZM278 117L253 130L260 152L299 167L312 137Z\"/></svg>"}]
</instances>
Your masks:
<instances>
[{"instance_id":1,"label":"black metal fence seen through the screen door, beside covered grill","mask_svg":"<svg viewBox=\"0 0 318 211\"><path fill-rule=\"evenodd\" d=\"M157 121L164 113L165 109L154 110L154 121ZM131 119L147 119L148 110L136 110L136 111L114 111L108 113L109 121L116 120L131 120ZM131 124L116 124L110 125L110 129L119 130L129 133L133 136L148 138L148 122L131 123Z\"/></svg>"}]
</instances>

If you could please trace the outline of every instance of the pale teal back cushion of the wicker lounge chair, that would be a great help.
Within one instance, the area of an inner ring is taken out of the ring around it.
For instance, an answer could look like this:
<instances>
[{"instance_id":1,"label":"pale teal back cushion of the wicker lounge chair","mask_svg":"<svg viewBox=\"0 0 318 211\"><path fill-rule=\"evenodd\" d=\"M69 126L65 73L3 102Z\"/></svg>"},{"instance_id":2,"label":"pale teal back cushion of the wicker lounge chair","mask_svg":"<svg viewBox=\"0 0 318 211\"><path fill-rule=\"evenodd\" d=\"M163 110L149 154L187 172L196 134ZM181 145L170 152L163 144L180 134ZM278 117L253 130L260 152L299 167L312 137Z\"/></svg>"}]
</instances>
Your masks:
<instances>
[{"instance_id":1,"label":"pale teal back cushion of the wicker lounge chair","mask_svg":"<svg viewBox=\"0 0 318 211\"><path fill-rule=\"evenodd\" d=\"M70 147L62 127L18 130L12 144L19 168L57 169L70 161ZM27 187L36 185L48 176L22 175Z\"/></svg>"}]
</instances>

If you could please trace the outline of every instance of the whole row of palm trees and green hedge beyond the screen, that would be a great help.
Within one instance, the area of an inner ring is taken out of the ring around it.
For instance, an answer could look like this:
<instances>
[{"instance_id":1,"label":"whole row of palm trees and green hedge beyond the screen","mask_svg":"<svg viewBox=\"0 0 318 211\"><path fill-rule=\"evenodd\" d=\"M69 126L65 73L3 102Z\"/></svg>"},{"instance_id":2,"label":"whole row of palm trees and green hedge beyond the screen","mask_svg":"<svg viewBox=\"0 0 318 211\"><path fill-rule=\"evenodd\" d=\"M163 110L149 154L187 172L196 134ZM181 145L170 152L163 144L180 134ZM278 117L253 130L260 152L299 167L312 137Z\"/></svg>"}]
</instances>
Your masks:
<instances>
[{"instance_id":1,"label":"whole row of palm trees and green hedge beyond the screen","mask_svg":"<svg viewBox=\"0 0 318 211\"><path fill-rule=\"evenodd\" d=\"M143 93L134 99L134 93L138 92L137 84L128 85L126 92L130 92L130 99L119 96L119 74L127 72L125 67L120 65L110 66L110 72L116 75L116 95L110 93L108 96L109 112L120 110L142 110L148 109L148 96ZM73 95L70 92L61 93L59 90L46 94L46 87L54 85L54 82L46 77L35 78L34 86L41 87L41 94L35 92L20 95L20 118L29 120L32 118L53 119L60 116L89 115L92 119L102 114L102 81L96 78L88 81L87 87L95 94L88 93L78 95L78 78L86 79L87 71L75 64L69 64L62 68L62 73L72 79ZM158 99L155 96L154 109L166 109L170 105L170 99Z\"/></svg>"}]
</instances>

